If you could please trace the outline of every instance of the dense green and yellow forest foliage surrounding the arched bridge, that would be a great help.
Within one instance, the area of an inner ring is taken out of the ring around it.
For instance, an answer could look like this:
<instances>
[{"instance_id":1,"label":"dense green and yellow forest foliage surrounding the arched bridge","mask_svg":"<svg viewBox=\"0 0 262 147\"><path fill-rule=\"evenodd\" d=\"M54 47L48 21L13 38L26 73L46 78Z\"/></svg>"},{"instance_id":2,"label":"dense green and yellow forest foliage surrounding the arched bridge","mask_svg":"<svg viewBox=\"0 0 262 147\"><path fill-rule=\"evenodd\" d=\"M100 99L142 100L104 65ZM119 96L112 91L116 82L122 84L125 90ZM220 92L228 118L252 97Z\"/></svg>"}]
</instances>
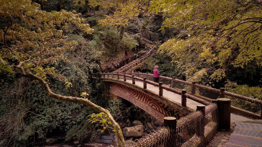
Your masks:
<instances>
[{"instance_id":1,"label":"dense green and yellow forest foliage surrounding the arched bridge","mask_svg":"<svg viewBox=\"0 0 262 147\"><path fill-rule=\"evenodd\" d=\"M118 120L131 111L122 100L105 106L97 98L103 83L89 75L101 69L102 60L111 66L112 60L137 54L145 46L142 39L149 45L163 41L159 53L145 61L148 71L162 64L163 76L212 87L226 81L228 91L261 99L261 6L262 0L1 0L0 146L43 141L56 129L67 132L68 140L94 137L95 128L86 123L91 109L108 116L124 146L108 110ZM257 73L257 87L250 88L254 81L244 76ZM228 75L247 85L225 79ZM83 110L83 105L89 107ZM257 105L237 105L258 110ZM128 111L119 115L119 107Z\"/></svg>"}]
</instances>

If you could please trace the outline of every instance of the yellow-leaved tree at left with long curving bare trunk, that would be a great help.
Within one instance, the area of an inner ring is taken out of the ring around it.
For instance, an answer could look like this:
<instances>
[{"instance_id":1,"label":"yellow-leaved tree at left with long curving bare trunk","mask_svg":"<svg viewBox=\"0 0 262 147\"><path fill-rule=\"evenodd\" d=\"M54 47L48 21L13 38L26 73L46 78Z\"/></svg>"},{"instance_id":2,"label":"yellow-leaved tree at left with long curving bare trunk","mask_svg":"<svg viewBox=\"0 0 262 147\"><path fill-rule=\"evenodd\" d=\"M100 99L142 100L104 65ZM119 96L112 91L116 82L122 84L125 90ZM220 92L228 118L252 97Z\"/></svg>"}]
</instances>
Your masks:
<instances>
[{"instance_id":1,"label":"yellow-leaved tree at left with long curving bare trunk","mask_svg":"<svg viewBox=\"0 0 262 147\"><path fill-rule=\"evenodd\" d=\"M91 34L93 29L79 18L75 11L46 12L30 0L2 0L0 4L0 72L20 73L21 76L39 81L48 97L88 105L97 112L105 112L116 130L119 146L124 139L119 125L110 112L88 99L67 97L54 93L47 81L47 75L66 81L57 74L54 67L58 60L68 61L65 50L73 50L77 41L69 41L67 34L81 30Z\"/></svg>"}]
</instances>

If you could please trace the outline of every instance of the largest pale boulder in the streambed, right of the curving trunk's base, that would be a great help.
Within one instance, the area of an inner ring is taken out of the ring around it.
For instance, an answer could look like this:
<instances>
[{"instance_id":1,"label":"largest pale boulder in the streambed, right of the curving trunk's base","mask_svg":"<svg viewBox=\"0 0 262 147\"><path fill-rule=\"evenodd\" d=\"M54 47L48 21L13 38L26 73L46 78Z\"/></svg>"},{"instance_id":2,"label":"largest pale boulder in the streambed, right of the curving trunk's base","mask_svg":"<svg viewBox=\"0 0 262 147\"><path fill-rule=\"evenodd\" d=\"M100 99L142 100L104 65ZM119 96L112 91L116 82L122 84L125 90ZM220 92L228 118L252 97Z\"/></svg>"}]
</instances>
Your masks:
<instances>
[{"instance_id":1,"label":"largest pale boulder in the streambed, right of the curving trunk's base","mask_svg":"<svg viewBox=\"0 0 262 147\"><path fill-rule=\"evenodd\" d=\"M143 133L144 133L143 125L123 128L124 137L141 137L143 136Z\"/></svg>"}]
</instances>

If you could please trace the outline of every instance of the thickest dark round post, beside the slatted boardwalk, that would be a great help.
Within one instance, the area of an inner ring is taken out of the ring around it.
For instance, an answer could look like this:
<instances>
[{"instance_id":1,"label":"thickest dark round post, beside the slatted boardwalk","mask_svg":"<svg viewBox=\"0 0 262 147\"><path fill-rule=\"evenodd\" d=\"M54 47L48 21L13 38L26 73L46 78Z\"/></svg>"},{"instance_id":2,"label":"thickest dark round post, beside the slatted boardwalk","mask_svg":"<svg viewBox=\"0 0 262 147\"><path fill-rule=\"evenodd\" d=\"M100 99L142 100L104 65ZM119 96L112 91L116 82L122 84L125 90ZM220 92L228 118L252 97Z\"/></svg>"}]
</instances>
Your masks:
<instances>
[{"instance_id":1,"label":"thickest dark round post, beside the slatted boardwalk","mask_svg":"<svg viewBox=\"0 0 262 147\"><path fill-rule=\"evenodd\" d=\"M219 128L230 129L230 107L231 100L226 98L217 99L217 108L219 115Z\"/></svg>"}]
</instances>

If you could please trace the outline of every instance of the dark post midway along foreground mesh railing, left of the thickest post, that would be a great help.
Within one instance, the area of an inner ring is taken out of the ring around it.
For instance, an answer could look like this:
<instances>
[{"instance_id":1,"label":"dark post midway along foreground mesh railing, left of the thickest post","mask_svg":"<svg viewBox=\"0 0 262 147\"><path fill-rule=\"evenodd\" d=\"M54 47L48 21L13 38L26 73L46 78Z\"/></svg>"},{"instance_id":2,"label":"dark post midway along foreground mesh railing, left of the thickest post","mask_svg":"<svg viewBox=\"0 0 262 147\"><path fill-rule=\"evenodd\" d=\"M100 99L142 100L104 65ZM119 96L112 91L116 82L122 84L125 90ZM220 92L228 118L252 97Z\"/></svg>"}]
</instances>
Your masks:
<instances>
[{"instance_id":1,"label":"dark post midway along foreground mesh railing, left of the thickest post","mask_svg":"<svg viewBox=\"0 0 262 147\"><path fill-rule=\"evenodd\" d=\"M199 125L196 125L196 135L199 137L204 137L205 133L205 105L196 105L196 111L201 111L202 117Z\"/></svg>"}]
</instances>

